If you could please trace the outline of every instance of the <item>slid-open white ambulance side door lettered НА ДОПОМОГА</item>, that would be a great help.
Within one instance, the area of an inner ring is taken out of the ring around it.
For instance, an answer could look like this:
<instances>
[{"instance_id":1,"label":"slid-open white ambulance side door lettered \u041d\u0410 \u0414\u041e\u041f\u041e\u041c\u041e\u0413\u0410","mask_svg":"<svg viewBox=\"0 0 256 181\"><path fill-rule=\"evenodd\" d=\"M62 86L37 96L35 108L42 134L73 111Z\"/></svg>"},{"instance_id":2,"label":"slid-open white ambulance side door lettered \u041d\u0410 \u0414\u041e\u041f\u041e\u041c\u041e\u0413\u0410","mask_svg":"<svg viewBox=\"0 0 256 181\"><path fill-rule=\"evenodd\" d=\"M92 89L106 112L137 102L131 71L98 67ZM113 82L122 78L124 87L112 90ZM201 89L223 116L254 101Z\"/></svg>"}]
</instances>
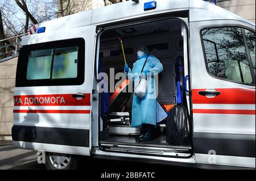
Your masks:
<instances>
[{"instance_id":1,"label":"slid-open white ambulance side door lettered \u041d\u0410 \u0414\u041e\u041f\u041e\u041c\u041e\u0413\u0410","mask_svg":"<svg viewBox=\"0 0 256 181\"><path fill-rule=\"evenodd\" d=\"M83 27L32 35L51 42L20 50L12 129L15 146L90 154L94 33L95 28Z\"/></svg>"}]
</instances>

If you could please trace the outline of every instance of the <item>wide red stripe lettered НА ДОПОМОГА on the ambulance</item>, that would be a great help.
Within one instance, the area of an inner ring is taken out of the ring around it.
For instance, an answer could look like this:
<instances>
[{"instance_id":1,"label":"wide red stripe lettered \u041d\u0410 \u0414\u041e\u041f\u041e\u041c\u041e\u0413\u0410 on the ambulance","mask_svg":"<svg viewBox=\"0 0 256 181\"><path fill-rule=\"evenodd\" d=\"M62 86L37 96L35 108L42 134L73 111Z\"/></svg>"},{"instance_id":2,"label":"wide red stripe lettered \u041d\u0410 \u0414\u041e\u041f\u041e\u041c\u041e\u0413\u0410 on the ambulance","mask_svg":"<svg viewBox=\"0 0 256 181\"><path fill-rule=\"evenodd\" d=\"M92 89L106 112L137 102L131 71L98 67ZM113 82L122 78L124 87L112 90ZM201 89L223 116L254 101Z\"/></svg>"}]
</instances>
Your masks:
<instances>
[{"instance_id":1,"label":"wide red stripe lettered \u041d\u0410 \u0414\u041e\u041f\u041e\u041c\u041e\u0413\u0410 on the ambulance","mask_svg":"<svg viewBox=\"0 0 256 181\"><path fill-rule=\"evenodd\" d=\"M90 94L77 100L72 94L15 95L14 106L90 106Z\"/></svg>"}]
</instances>

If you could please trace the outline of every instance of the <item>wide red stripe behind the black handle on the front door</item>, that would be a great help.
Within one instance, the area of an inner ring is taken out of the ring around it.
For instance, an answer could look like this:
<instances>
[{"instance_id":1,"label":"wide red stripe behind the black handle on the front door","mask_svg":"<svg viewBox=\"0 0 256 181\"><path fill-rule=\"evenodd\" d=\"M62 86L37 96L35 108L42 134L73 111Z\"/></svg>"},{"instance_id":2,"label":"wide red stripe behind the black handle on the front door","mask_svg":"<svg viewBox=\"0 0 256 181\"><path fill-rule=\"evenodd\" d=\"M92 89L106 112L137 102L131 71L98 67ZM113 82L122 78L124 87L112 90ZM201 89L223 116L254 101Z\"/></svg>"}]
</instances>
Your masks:
<instances>
[{"instance_id":1,"label":"wide red stripe behind the black handle on the front door","mask_svg":"<svg viewBox=\"0 0 256 181\"><path fill-rule=\"evenodd\" d=\"M193 104L255 104L255 89L215 89L221 94L214 98L199 95L199 91L206 89L192 89Z\"/></svg>"}]
</instances>

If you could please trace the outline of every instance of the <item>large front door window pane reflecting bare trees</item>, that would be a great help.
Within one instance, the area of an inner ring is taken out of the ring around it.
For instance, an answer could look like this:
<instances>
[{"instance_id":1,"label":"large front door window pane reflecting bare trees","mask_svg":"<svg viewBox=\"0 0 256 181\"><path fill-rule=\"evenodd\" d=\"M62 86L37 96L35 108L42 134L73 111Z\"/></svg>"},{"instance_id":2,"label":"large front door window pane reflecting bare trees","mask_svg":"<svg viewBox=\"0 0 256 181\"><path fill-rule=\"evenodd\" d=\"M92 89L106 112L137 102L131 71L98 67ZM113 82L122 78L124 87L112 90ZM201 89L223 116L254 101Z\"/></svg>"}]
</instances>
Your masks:
<instances>
[{"instance_id":1,"label":"large front door window pane reflecting bare trees","mask_svg":"<svg viewBox=\"0 0 256 181\"><path fill-rule=\"evenodd\" d=\"M202 31L202 36L211 75L235 82L253 82L241 28L208 28Z\"/></svg>"}]
</instances>

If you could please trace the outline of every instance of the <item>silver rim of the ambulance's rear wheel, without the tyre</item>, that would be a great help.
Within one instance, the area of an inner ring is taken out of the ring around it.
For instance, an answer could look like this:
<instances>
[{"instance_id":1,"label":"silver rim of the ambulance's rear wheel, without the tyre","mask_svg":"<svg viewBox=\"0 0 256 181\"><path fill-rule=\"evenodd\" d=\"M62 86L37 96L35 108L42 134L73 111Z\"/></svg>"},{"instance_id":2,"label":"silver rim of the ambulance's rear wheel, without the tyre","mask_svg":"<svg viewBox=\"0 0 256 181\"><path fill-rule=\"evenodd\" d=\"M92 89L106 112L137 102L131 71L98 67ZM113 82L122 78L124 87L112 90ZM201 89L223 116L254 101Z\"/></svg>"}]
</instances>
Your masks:
<instances>
[{"instance_id":1,"label":"silver rim of the ambulance's rear wheel, without the tyre","mask_svg":"<svg viewBox=\"0 0 256 181\"><path fill-rule=\"evenodd\" d=\"M71 155L49 155L49 160L55 169L65 169L71 161Z\"/></svg>"}]
</instances>

